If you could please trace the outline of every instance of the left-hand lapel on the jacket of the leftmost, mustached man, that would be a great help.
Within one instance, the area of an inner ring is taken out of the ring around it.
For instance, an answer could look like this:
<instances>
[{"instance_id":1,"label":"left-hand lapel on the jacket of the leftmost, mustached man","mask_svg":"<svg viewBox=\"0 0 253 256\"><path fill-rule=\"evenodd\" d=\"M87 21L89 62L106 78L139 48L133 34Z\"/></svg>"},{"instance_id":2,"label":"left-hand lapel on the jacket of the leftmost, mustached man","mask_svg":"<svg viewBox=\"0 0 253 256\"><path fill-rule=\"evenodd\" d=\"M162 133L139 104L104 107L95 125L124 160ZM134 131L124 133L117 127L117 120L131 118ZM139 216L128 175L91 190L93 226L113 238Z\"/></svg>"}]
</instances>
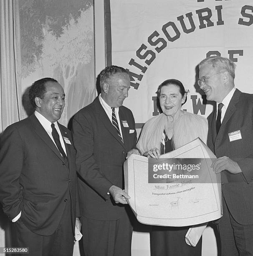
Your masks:
<instances>
[{"instance_id":1,"label":"left-hand lapel on the jacket of the leftmost, mustached man","mask_svg":"<svg viewBox=\"0 0 253 256\"><path fill-rule=\"evenodd\" d=\"M63 159L60 152L58 151L58 148L56 148L56 145L53 143L48 133L40 124L39 120L35 117L34 114L30 116L30 121L33 125L34 132L38 134L38 136L48 145L49 148L51 148L54 154L56 154L56 156L58 156L58 158L62 161Z\"/></svg>"}]
</instances>

